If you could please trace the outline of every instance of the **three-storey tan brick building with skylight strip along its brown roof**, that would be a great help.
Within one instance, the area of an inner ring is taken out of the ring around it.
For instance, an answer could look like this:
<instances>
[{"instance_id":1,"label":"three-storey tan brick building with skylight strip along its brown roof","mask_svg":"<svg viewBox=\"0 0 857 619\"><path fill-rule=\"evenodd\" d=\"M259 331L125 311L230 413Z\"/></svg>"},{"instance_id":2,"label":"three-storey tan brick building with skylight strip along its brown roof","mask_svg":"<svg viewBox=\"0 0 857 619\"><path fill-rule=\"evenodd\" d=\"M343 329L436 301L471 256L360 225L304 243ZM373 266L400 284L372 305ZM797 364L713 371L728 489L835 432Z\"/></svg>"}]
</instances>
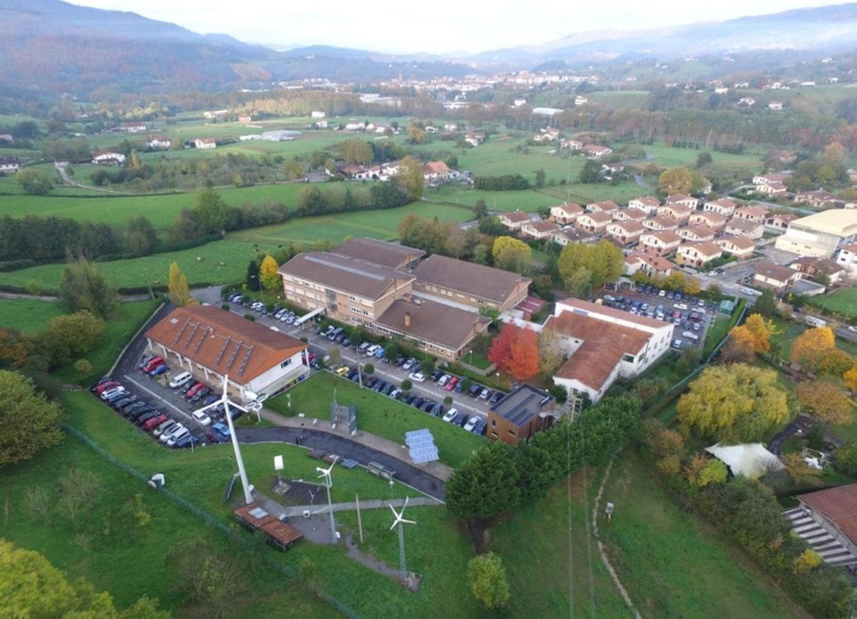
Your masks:
<instances>
[{"instance_id":1,"label":"three-storey tan brick building with skylight strip along its brown roof","mask_svg":"<svg viewBox=\"0 0 857 619\"><path fill-rule=\"evenodd\" d=\"M279 267L285 300L343 323L370 326L396 299L410 295L415 277L369 260L331 252L298 253Z\"/></svg>"}]
</instances>

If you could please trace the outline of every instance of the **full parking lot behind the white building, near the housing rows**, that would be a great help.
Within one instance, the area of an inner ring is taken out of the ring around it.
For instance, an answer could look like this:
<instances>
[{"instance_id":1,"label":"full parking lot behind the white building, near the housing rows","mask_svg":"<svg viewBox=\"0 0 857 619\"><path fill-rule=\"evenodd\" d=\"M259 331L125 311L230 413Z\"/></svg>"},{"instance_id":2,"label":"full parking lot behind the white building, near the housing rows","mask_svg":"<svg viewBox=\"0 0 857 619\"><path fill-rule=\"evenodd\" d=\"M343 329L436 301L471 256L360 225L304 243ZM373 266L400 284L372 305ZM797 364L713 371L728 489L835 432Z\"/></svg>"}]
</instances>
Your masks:
<instances>
[{"instance_id":1,"label":"full parking lot behind the white building, near the housing rows","mask_svg":"<svg viewBox=\"0 0 857 619\"><path fill-rule=\"evenodd\" d=\"M622 286L599 299L607 307L673 324L670 346L674 350L688 346L701 348L705 333L719 311L716 303L653 286L640 286L633 290Z\"/></svg>"}]
</instances>

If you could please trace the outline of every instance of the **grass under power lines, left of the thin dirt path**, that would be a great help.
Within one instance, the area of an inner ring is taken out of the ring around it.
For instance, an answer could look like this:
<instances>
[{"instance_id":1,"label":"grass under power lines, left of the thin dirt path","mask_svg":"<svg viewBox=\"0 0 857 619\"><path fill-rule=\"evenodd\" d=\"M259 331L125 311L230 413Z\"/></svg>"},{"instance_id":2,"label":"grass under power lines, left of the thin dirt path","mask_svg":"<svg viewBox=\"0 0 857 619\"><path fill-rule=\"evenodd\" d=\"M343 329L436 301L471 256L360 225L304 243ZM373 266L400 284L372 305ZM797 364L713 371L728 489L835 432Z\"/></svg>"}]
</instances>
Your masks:
<instances>
[{"instance_id":1,"label":"grass under power lines, left of the thin dirt path","mask_svg":"<svg viewBox=\"0 0 857 619\"><path fill-rule=\"evenodd\" d=\"M587 514L597 491L597 471L575 473L536 505L492 529L488 550L503 559L512 596L508 616L626 617L626 604L589 538ZM591 578L591 586L590 586Z\"/></svg>"}]
</instances>

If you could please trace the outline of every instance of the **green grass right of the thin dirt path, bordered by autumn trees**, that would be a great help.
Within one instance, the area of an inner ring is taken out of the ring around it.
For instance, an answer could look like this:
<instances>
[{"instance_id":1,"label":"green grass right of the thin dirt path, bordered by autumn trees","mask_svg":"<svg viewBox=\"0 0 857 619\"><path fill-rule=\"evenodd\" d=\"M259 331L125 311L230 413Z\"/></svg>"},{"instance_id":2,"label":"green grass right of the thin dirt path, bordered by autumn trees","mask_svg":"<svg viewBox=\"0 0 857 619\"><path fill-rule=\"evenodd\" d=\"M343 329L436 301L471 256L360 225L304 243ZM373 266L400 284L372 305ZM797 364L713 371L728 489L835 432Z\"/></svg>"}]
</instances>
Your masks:
<instances>
[{"instance_id":1,"label":"green grass right of the thin dirt path, bordered by autumn trees","mask_svg":"<svg viewBox=\"0 0 857 619\"><path fill-rule=\"evenodd\" d=\"M785 593L718 533L682 511L626 449L604 499L599 531L620 580L644 616L803 616Z\"/></svg>"}]
</instances>

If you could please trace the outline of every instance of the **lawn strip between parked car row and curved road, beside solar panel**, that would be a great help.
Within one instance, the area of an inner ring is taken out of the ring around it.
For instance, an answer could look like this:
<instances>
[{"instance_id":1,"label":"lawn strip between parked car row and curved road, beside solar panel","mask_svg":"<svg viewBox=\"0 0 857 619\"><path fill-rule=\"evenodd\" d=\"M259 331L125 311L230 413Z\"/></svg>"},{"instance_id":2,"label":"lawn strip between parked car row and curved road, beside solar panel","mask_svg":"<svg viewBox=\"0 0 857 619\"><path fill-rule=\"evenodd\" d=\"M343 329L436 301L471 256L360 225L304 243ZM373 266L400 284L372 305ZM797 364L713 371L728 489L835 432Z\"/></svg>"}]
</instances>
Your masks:
<instances>
[{"instance_id":1,"label":"lawn strip between parked car row and curved road, beside solar panel","mask_svg":"<svg viewBox=\"0 0 857 619\"><path fill-rule=\"evenodd\" d=\"M381 396L375 391L361 389L350 380L339 378L331 372L318 372L313 378L289 391L291 411L286 404L286 396L269 400L266 406L280 414L302 413L307 417L330 420L330 402L333 401L334 389L337 402L357 405L358 430L404 445L405 432L428 428L434 436L440 461L451 467L458 466L485 442L484 438L477 437L472 432L464 432L457 426L387 396Z\"/></svg>"}]
</instances>

